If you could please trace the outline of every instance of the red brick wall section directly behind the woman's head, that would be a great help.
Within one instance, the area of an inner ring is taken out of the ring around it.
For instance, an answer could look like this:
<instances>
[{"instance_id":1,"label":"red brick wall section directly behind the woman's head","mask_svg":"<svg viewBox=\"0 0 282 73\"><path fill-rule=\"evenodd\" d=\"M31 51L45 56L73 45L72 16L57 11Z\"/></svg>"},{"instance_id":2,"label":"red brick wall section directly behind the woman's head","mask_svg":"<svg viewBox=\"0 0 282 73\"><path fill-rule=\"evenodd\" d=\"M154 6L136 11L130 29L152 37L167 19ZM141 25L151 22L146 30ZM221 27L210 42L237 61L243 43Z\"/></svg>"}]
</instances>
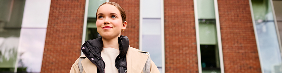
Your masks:
<instances>
[{"instance_id":1,"label":"red brick wall section directly behind the woman's head","mask_svg":"<svg viewBox=\"0 0 282 73\"><path fill-rule=\"evenodd\" d=\"M130 46L139 49L139 0L110 0L123 7L126 14L127 27L122 35L129 38Z\"/></svg>"}]
</instances>

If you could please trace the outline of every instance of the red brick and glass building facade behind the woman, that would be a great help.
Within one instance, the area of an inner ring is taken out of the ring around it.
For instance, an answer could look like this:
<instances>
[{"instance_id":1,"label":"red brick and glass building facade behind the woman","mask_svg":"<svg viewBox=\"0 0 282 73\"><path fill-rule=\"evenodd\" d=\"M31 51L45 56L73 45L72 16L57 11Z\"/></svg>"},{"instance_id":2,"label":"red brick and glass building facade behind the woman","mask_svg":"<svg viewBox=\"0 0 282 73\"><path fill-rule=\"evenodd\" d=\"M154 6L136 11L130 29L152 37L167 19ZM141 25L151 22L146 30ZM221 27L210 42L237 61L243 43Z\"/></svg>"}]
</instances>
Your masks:
<instances>
[{"instance_id":1,"label":"red brick and glass building facade behind the woman","mask_svg":"<svg viewBox=\"0 0 282 73\"><path fill-rule=\"evenodd\" d=\"M0 72L68 73L107 1L161 73L282 72L281 0L0 0Z\"/></svg>"}]
</instances>

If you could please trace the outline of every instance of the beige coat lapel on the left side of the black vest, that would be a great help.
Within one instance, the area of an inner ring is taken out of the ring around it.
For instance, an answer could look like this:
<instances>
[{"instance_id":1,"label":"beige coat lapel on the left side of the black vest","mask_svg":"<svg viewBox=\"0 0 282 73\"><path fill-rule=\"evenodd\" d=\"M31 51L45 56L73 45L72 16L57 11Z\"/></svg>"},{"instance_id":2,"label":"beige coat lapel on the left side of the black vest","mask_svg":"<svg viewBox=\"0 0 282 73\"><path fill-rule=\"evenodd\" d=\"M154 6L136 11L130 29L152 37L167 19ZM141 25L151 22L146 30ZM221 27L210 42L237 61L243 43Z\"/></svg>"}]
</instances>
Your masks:
<instances>
[{"instance_id":1,"label":"beige coat lapel on the left side of the black vest","mask_svg":"<svg viewBox=\"0 0 282 73\"><path fill-rule=\"evenodd\" d=\"M97 73L97 66L92 63L88 58L81 61L83 72L82 73Z\"/></svg>"}]
</instances>

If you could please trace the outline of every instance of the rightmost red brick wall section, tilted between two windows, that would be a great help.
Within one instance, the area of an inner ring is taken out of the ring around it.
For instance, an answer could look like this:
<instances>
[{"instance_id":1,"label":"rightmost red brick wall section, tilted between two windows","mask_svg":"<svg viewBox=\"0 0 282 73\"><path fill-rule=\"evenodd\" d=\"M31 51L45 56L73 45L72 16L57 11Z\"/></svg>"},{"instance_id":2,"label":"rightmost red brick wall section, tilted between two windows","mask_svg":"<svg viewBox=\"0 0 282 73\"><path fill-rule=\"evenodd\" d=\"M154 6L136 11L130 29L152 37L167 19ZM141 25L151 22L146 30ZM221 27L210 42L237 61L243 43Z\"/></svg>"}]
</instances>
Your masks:
<instances>
[{"instance_id":1,"label":"rightmost red brick wall section, tilted between two windows","mask_svg":"<svg viewBox=\"0 0 282 73\"><path fill-rule=\"evenodd\" d=\"M225 73L261 73L248 0L218 0Z\"/></svg>"}]
</instances>

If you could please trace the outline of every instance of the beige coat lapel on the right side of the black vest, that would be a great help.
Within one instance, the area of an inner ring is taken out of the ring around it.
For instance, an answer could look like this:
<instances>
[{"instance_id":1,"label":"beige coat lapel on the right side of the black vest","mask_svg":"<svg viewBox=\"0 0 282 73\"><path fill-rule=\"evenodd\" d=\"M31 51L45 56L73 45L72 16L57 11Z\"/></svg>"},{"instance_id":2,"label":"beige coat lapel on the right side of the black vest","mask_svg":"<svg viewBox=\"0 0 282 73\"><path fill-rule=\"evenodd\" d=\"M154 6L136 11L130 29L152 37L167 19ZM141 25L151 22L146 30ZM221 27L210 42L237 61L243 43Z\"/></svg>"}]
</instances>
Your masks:
<instances>
[{"instance_id":1,"label":"beige coat lapel on the right side of the black vest","mask_svg":"<svg viewBox=\"0 0 282 73\"><path fill-rule=\"evenodd\" d=\"M129 46L126 54L127 73L141 73L149 55L140 53L141 50Z\"/></svg>"}]
</instances>

